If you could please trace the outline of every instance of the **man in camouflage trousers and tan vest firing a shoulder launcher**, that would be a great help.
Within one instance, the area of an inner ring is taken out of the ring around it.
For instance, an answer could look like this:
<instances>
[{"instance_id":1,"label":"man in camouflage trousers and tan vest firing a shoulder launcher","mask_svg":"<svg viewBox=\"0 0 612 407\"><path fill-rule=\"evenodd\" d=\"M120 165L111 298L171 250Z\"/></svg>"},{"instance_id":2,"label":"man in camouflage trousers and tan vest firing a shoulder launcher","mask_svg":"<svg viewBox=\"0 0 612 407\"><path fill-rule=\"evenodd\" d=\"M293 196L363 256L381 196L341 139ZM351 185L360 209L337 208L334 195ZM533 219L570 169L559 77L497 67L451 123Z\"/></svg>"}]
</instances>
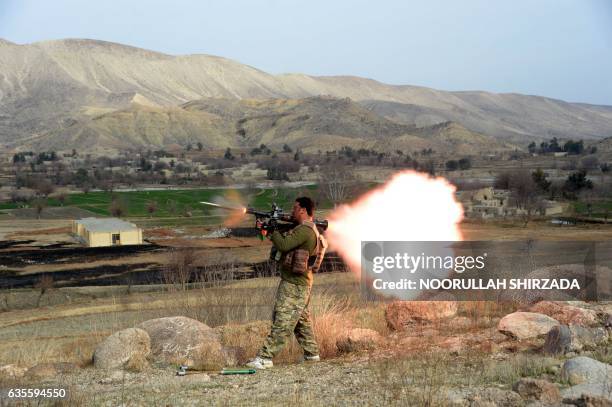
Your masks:
<instances>
[{"instance_id":1,"label":"man in camouflage trousers and tan vest firing a shoulder launcher","mask_svg":"<svg viewBox=\"0 0 612 407\"><path fill-rule=\"evenodd\" d=\"M276 291L270 334L257 357L247 363L249 367L271 368L272 358L285 346L291 333L302 347L305 361L319 360L309 304L312 274L321 264L327 243L313 223L314 210L312 199L297 198L291 216L298 225L285 234L273 231L273 225L268 230L267 236L278 251L276 260L280 263L281 281ZM315 256L314 263L309 262Z\"/></svg>"}]
</instances>

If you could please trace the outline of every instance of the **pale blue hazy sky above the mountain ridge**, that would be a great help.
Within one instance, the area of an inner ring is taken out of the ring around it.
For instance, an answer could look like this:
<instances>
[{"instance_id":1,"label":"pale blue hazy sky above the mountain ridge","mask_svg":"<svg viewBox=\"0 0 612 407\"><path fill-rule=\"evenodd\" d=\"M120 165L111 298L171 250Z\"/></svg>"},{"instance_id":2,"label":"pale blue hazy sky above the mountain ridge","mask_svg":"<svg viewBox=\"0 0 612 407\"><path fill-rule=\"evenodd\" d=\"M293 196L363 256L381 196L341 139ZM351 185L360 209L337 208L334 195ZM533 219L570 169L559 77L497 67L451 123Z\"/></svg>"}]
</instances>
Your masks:
<instances>
[{"instance_id":1,"label":"pale blue hazy sky above the mountain ridge","mask_svg":"<svg viewBox=\"0 0 612 407\"><path fill-rule=\"evenodd\" d=\"M0 0L0 38L612 105L612 0Z\"/></svg>"}]
</instances>

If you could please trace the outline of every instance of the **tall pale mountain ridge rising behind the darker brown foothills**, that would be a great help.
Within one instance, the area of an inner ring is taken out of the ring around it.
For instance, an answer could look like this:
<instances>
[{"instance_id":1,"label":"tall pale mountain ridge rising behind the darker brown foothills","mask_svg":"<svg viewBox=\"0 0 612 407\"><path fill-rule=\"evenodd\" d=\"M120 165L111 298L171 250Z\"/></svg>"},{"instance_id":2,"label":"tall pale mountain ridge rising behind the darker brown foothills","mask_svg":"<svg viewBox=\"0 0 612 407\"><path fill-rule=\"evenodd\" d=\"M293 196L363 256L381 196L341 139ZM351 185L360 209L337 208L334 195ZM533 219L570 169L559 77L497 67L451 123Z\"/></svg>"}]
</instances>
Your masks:
<instances>
[{"instance_id":1,"label":"tall pale mountain ridge rising behind the darker brown foothills","mask_svg":"<svg viewBox=\"0 0 612 407\"><path fill-rule=\"evenodd\" d=\"M102 40L24 45L0 40L0 45L0 143L13 147L32 137L57 137L65 122L85 121L91 112L121 111L134 103L172 108L203 98L293 100L319 95L350 98L400 125L460 123L501 144L612 135L612 106L606 105L518 93L447 92L350 75L272 75L224 57L169 55Z\"/></svg>"}]
</instances>

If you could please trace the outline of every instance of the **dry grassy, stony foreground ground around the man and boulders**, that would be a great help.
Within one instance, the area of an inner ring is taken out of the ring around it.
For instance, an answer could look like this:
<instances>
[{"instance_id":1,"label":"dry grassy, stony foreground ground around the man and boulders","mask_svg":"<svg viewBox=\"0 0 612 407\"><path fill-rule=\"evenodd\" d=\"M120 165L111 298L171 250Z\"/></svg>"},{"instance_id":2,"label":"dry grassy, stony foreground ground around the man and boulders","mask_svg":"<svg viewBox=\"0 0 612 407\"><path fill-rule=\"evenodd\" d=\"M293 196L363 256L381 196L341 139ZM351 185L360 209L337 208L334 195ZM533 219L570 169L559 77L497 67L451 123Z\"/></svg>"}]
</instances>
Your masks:
<instances>
[{"instance_id":1,"label":"dry grassy, stony foreground ground around the man and boulders","mask_svg":"<svg viewBox=\"0 0 612 407\"><path fill-rule=\"evenodd\" d=\"M230 323L242 332L244 325L236 324L269 320L276 284L276 279L269 278L187 292L128 294L117 290L113 298L96 298L96 292L102 290L99 287L65 290L68 295L79 290L91 297L44 307L36 314L0 313L0 361L20 366L64 363L62 372L56 367L39 367L39 376L17 383L20 387L68 389L70 398L65 405L71 406L464 406L485 389L509 392L520 377L559 381L563 358L542 355L543 339L517 342L497 332L500 315L510 310L495 304L465 303L451 321L393 332L384 323L380 305L360 302L356 279L348 273L317 276L312 304L315 325L326 326L321 324L334 316L341 330L348 320L352 327L374 329L384 337L375 350L325 354L320 363L302 364L293 342L275 360L274 369L244 376L194 372L178 377L175 366L109 372L91 365L93 349L107 335L150 318L186 315L212 327ZM339 308L340 303L345 305ZM336 332L329 327L317 329L323 349ZM251 357L267 330L244 332L249 334L240 334L231 345L243 347ZM612 348L591 356L609 363ZM49 371L54 373L45 373ZM12 383L5 380L2 385L15 385Z\"/></svg>"}]
</instances>

